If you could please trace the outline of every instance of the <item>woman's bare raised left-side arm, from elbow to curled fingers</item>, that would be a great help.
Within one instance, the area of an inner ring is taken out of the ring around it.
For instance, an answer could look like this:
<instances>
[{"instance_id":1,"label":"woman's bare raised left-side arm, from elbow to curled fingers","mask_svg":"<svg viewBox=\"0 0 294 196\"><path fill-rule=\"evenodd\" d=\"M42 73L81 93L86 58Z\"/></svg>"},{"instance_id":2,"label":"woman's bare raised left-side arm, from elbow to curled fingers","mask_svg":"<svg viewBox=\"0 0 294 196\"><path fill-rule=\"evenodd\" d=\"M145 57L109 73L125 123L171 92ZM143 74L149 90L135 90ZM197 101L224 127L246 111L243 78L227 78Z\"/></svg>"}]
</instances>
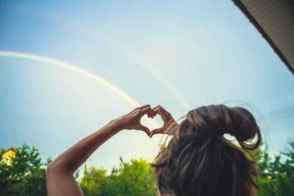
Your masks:
<instances>
[{"instance_id":1,"label":"woman's bare raised left-side arm, from elbow to curled fingers","mask_svg":"<svg viewBox=\"0 0 294 196\"><path fill-rule=\"evenodd\" d=\"M140 123L141 118L150 113L153 114L153 111L149 105L136 108L129 114L111 121L58 156L49 164L46 171L48 196L83 196L73 173L98 147L123 129L143 130L150 135L150 130Z\"/></svg>"}]
</instances>

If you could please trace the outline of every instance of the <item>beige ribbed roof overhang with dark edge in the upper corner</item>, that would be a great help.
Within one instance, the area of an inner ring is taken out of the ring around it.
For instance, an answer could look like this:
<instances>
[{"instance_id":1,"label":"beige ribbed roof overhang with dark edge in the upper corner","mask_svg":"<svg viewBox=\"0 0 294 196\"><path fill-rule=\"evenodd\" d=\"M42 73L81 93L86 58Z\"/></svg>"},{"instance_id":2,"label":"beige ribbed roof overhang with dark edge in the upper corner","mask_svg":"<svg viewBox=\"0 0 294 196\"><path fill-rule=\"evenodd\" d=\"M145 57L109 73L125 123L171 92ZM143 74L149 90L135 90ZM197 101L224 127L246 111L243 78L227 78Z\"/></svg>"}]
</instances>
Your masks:
<instances>
[{"instance_id":1,"label":"beige ribbed roof overhang with dark edge in the upper corner","mask_svg":"<svg viewBox=\"0 0 294 196\"><path fill-rule=\"evenodd\" d=\"M294 74L294 0L233 0Z\"/></svg>"}]
</instances>

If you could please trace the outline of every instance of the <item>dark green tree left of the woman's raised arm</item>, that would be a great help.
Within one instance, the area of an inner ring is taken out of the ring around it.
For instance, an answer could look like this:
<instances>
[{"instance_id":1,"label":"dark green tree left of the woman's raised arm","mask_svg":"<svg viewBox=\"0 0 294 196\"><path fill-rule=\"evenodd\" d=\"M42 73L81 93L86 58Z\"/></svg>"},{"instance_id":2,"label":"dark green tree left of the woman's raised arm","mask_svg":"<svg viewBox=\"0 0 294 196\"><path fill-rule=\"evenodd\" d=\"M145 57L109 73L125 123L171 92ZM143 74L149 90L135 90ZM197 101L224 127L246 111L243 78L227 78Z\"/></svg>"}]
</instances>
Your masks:
<instances>
[{"instance_id":1,"label":"dark green tree left of the woman's raised arm","mask_svg":"<svg viewBox=\"0 0 294 196\"><path fill-rule=\"evenodd\" d=\"M24 143L16 150L10 166L0 163L0 195L46 196L46 171L41 168L43 164L38 149Z\"/></svg>"}]
</instances>

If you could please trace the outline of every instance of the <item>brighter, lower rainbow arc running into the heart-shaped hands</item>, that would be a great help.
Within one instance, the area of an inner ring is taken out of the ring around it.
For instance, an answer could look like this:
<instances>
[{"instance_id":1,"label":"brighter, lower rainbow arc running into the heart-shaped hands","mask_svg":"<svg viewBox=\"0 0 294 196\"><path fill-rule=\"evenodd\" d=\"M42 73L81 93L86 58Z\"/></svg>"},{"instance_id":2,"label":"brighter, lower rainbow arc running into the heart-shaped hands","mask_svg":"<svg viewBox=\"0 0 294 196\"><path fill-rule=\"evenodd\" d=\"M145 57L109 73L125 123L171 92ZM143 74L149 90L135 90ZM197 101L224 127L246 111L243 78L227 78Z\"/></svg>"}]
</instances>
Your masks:
<instances>
[{"instance_id":1,"label":"brighter, lower rainbow arc running into the heart-shaped hands","mask_svg":"<svg viewBox=\"0 0 294 196\"><path fill-rule=\"evenodd\" d=\"M89 78L103 84L108 89L112 90L114 93L121 96L126 102L128 102L133 107L135 107L135 108L140 107L139 103L137 103L133 98L128 96L126 93L124 93L121 89L119 89L115 85L113 85L110 82L106 81L105 79L99 77L98 75L95 75L94 73L87 72L87 71L85 71L85 70L83 70L83 69L81 69L81 68L79 68L77 66L74 66L72 64L65 63L65 62L62 62L62 61L59 61L59 60L56 60L56 59L47 58L47 57L44 57L44 56L38 56L38 55L34 55L34 54L27 54L27 53L21 53L21 52L1 51L0 50L0 56L29 59L29 60L45 62L45 63L49 63L51 65L56 65L56 66L59 66L59 67L63 67L65 69L71 70L71 71L73 71L75 73L79 73L81 75L89 77ZM146 116L145 116L145 119L154 128L159 127L159 125L153 119L149 119Z\"/></svg>"}]
</instances>

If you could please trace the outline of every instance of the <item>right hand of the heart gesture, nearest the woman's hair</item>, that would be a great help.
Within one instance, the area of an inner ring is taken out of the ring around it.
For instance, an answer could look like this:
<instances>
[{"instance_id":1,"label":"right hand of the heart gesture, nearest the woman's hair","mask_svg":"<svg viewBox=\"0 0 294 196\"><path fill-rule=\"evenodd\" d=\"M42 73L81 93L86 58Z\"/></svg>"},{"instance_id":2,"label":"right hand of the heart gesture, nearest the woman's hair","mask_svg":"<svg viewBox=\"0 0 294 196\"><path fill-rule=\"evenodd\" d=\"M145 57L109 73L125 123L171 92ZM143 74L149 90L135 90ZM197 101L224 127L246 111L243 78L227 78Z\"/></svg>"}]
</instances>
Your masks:
<instances>
[{"instance_id":1,"label":"right hand of the heart gesture, nearest the woman's hair","mask_svg":"<svg viewBox=\"0 0 294 196\"><path fill-rule=\"evenodd\" d=\"M147 114L148 118L153 119L153 116L156 116L157 114L160 115L160 117L163 121L163 126L160 128L153 129L151 131L149 138L152 138L152 136L155 134L164 134L164 131L167 128L173 128L174 126L177 125L177 123L172 118L172 115L168 111L166 111L163 107L161 107L160 105L154 107L152 110L153 110L153 114L152 113Z\"/></svg>"}]
</instances>

